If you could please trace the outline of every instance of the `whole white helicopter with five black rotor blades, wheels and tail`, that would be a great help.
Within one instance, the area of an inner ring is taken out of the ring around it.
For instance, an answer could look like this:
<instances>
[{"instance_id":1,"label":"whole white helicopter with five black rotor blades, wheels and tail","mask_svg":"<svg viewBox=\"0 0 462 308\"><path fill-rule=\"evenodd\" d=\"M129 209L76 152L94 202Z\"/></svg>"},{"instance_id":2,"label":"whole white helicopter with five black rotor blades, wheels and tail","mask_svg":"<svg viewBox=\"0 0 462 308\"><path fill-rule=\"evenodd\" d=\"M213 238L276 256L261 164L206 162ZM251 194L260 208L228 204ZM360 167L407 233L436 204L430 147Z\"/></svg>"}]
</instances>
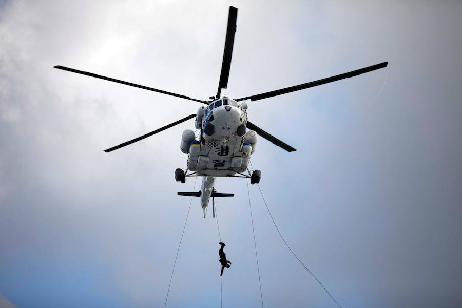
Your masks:
<instances>
[{"instance_id":1,"label":"whole white helicopter with five black rotor blades, wheels and tail","mask_svg":"<svg viewBox=\"0 0 462 308\"><path fill-rule=\"evenodd\" d=\"M214 187L217 177L249 178L251 179L251 184L258 184L260 182L261 171L251 171L248 168L250 157L256 148L258 136L272 142L273 144L283 148L288 152L296 150L292 146L284 143L283 141L272 136L272 134L269 134L265 130L248 121L247 101L255 102L258 100L275 97L277 95L331 83L381 69L387 67L388 65L388 62L382 62L347 73L292 87L250 95L239 99L227 98L226 96L221 95L221 90L226 89L228 85L229 69L231 66L234 38L236 33L237 12L237 8L233 6L229 7L223 61L221 65L220 79L218 82L218 91L216 95L209 97L205 101L190 98L186 95L113 79L86 71L76 70L61 65L54 66L54 68L57 69L171 95L205 105L199 107L196 114L188 115L183 119L146 133L143 136L104 150L105 152L111 152L113 150L120 149L134 142L138 142L154 134L157 134L163 130L174 127L175 125L195 118L195 128L200 130L200 133L199 136L196 137L195 132L191 129L186 129L183 132L180 149L183 153L188 155L188 159L185 169L177 168L175 170L175 180L177 182L185 183L186 177L202 177L201 190L198 192L178 192L178 195L200 197L201 206L204 211L204 218L210 198L212 198L214 204L215 197L234 196L234 194L221 193L216 191Z\"/></svg>"}]
</instances>

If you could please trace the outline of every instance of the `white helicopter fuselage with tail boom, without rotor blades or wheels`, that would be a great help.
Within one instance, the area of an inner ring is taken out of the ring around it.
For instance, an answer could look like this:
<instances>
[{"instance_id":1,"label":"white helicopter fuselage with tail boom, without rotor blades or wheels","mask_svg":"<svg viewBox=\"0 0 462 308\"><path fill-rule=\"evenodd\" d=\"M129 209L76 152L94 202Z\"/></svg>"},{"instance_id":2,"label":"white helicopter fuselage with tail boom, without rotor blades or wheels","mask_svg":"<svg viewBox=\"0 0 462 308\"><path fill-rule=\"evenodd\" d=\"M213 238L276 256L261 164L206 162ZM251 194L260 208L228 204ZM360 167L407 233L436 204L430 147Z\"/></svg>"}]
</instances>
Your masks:
<instances>
[{"instance_id":1,"label":"white helicopter fuselage with tail boom, without rotor blades or wheels","mask_svg":"<svg viewBox=\"0 0 462 308\"><path fill-rule=\"evenodd\" d=\"M204 210L214 191L215 177L232 177L247 170L257 133L246 129L246 107L232 99L215 99L197 112L199 140L192 130L183 132L180 148L188 153L187 170L203 176L201 205Z\"/></svg>"}]
</instances>

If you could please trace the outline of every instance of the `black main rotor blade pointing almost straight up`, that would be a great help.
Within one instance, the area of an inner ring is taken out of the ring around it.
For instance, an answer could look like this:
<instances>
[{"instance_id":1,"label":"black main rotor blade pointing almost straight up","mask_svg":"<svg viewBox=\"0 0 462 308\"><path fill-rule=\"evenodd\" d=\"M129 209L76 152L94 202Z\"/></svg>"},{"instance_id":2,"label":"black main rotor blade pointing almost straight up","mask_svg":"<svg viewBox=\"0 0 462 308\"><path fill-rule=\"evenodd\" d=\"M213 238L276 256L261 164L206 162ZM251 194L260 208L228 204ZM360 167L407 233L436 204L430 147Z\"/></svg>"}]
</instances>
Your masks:
<instances>
[{"instance_id":1,"label":"black main rotor blade pointing almost straight up","mask_svg":"<svg viewBox=\"0 0 462 308\"><path fill-rule=\"evenodd\" d=\"M220 97L221 89L228 86L229 68L233 55L234 35L236 34L237 8L230 6L228 14L228 26L226 28L225 48L223 51L223 62L221 63L220 81L218 83L217 98Z\"/></svg>"}]
</instances>

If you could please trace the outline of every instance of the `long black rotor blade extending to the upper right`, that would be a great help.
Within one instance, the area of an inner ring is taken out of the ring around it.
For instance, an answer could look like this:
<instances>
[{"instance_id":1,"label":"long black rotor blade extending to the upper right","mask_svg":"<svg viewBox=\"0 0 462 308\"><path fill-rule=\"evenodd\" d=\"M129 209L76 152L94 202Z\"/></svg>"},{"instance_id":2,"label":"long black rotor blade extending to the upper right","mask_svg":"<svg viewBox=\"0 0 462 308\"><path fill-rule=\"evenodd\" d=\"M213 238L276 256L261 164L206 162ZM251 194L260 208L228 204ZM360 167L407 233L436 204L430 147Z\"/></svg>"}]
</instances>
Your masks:
<instances>
[{"instance_id":1,"label":"long black rotor blade extending to the upper right","mask_svg":"<svg viewBox=\"0 0 462 308\"><path fill-rule=\"evenodd\" d=\"M357 75L360 75L360 74L363 74L363 73L367 73L367 72L370 72L370 71L373 71L373 70L376 70L376 69L384 68L387 65L388 65L388 62L382 62L382 63L376 64L376 65L371 65L371 66L368 66L368 67L360 68L360 69L357 69L357 70L354 70L354 71L351 71L351 72L348 72L348 73L343 73L343 74L340 74L340 75L320 79L320 80L317 80L317 81L304 83L304 84L301 84L301 85L298 85L298 86L293 86L293 87L279 89L279 90L275 90L275 91L271 91L271 92L256 94L256 95L252 95L252 96L249 96L249 97L237 99L236 101L243 101L243 100L248 100L248 99L251 99L252 101L258 101L258 100L262 100L262 99L267 99L267 98L271 98L271 97L274 97L274 96L277 96L277 95L290 93L290 92L294 92L294 91L298 91L298 90L303 90L303 89L306 89L306 88L312 88L312 87L320 86L320 85L323 85L323 84L326 84L326 83L330 83L330 82L338 81L338 80L341 80L341 79L345 79L345 78L350 78L350 77L357 76Z\"/></svg>"}]
</instances>

